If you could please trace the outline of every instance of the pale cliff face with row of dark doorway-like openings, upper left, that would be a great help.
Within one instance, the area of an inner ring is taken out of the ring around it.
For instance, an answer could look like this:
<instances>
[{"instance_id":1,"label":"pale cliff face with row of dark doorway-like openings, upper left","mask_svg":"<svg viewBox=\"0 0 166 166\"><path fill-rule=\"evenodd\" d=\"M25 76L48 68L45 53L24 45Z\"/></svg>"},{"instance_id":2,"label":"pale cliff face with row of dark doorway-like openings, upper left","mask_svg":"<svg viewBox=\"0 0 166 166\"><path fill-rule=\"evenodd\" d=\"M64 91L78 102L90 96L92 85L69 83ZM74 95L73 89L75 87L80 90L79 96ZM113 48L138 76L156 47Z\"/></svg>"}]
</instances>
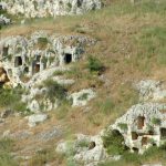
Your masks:
<instances>
[{"instance_id":1,"label":"pale cliff face with row of dark doorway-like openings, upper left","mask_svg":"<svg viewBox=\"0 0 166 166\"><path fill-rule=\"evenodd\" d=\"M0 41L0 60L13 86L53 66L81 59L84 46L95 41L81 35L49 34L44 31L30 37L9 37ZM21 80L22 79L22 80Z\"/></svg>"}]
</instances>

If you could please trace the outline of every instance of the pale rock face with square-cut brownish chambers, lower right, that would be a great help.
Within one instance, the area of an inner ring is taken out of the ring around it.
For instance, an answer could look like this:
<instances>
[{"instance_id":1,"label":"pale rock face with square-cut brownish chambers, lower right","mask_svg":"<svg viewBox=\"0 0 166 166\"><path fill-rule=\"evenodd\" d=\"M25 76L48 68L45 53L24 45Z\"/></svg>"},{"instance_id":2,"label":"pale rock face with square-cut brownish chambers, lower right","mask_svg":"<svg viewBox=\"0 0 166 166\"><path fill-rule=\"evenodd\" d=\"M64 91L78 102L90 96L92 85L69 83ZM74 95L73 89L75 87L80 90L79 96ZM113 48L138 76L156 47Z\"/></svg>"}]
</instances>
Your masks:
<instances>
[{"instance_id":1,"label":"pale rock face with square-cut brownish chambers, lower right","mask_svg":"<svg viewBox=\"0 0 166 166\"><path fill-rule=\"evenodd\" d=\"M133 152L144 153L153 145L166 141L166 105L145 103L132 106L117 118L112 129L117 129Z\"/></svg>"}]
</instances>

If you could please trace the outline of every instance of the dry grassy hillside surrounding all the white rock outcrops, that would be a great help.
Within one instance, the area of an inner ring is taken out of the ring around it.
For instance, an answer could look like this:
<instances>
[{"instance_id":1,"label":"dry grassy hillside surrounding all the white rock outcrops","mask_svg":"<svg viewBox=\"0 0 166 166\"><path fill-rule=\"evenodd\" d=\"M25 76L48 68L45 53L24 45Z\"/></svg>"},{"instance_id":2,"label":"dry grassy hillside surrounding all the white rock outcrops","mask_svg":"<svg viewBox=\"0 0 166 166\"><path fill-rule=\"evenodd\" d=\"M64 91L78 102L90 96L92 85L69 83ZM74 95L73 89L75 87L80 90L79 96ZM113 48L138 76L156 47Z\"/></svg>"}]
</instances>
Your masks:
<instances>
[{"instance_id":1,"label":"dry grassy hillside surrounding all the white rock outcrops","mask_svg":"<svg viewBox=\"0 0 166 166\"><path fill-rule=\"evenodd\" d=\"M32 113L24 113L25 106L20 102L22 90L20 92L18 89L1 89L0 111L13 112L7 118L0 118L0 144L4 146L2 149L0 147L0 165L81 166L84 163L73 162L75 152L61 155L55 151L61 141L72 142L77 133L97 135L133 105L142 103L139 92L135 89L139 81L162 81L164 86L166 85L166 1L148 0L133 4L127 0L117 0L104 3L105 7L101 10L83 15L13 18L13 24L0 30L1 42L6 38L18 35L29 40L35 31L46 31L49 38L56 34L94 40L95 44L83 48L84 53L79 61L68 64L70 71L58 70L54 76L74 80L74 84L65 87L69 94L89 89L96 94L86 105L72 106L69 101L63 101L59 107L42 112L46 114L46 121L35 127L29 127L24 116ZM22 20L23 23L20 23ZM73 46L73 43L70 44ZM44 73L41 73L41 77L42 74ZM35 85L35 77L32 85L33 83ZM51 86L51 83L45 83L45 86ZM49 93L52 94L51 92L52 90ZM64 91L59 92L61 94ZM86 95L82 97L86 98ZM152 102L151 100L149 97L147 102ZM165 102L163 97L158 103ZM89 146L83 142L80 146ZM104 160L97 164L136 166L159 163L164 166L165 153L165 146L155 147L142 156L124 153L124 157L117 162Z\"/></svg>"}]
</instances>

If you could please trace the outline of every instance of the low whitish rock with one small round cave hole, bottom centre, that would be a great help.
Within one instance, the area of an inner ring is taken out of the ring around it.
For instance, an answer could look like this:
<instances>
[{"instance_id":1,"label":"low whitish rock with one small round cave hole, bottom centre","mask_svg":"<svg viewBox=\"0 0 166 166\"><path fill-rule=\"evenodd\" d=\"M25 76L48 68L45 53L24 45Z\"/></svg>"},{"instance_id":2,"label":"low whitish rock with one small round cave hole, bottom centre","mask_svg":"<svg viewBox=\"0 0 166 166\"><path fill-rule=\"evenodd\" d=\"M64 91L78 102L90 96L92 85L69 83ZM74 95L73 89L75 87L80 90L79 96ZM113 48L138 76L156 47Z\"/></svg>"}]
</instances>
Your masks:
<instances>
[{"instance_id":1,"label":"low whitish rock with one small round cave hole, bottom centre","mask_svg":"<svg viewBox=\"0 0 166 166\"><path fill-rule=\"evenodd\" d=\"M84 165L96 165L98 162L106 159L107 155L103 147L101 135L77 134L76 137L75 141L61 141L56 146L56 152L69 157L72 154L76 163L81 162Z\"/></svg>"}]
</instances>

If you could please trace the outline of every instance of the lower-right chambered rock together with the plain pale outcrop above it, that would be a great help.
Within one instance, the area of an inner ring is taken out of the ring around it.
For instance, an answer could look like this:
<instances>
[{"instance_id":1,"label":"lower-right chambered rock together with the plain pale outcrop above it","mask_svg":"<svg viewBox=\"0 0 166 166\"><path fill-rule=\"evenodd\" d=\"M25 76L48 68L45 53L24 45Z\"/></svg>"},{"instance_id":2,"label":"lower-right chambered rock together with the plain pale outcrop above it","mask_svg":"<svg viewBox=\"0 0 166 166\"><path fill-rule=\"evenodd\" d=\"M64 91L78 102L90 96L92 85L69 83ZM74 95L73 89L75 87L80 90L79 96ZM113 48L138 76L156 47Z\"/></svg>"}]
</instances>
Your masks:
<instances>
[{"instance_id":1,"label":"lower-right chambered rock together with the plain pale outcrop above it","mask_svg":"<svg viewBox=\"0 0 166 166\"><path fill-rule=\"evenodd\" d=\"M141 103L117 118L108 131L117 131L131 152L143 154L151 146L166 142L165 82L143 80L135 84Z\"/></svg>"}]
</instances>

